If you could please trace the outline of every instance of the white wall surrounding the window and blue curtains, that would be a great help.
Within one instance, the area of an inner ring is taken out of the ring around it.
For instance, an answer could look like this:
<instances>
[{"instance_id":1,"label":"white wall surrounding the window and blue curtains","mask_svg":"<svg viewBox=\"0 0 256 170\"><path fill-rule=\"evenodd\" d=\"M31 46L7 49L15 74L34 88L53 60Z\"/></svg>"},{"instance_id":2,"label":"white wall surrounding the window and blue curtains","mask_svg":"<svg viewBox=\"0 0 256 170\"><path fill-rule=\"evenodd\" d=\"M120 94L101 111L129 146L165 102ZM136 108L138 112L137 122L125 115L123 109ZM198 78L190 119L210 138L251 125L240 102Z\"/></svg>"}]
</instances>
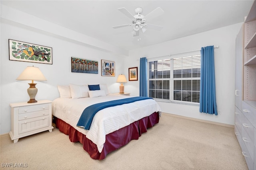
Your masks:
<instances>
[{"instance_id":1,"label":"white wall surrounding the window and blue curtains","mask_svg":"<svg viewBox=\"0 0 256 170\"><path fill-rule=\"evenodd\" d=\"M154 46L132 50L129 53L129 57L125 58L125 63L128 67L138 66L139 70L138 59L141 57L153 58L200 50L204 46L219 46L219 48L214 50L216 102L220 111L218 116L200 113L199 106L166 102L158 102L158 104L161 106L162 111L166 113L234 125L235 39L241 26L242 23L234 24ZM129 85L126 85L126 91L138 94L138 86L139 82L129 82Z\"/></svg>"}]
</instances>

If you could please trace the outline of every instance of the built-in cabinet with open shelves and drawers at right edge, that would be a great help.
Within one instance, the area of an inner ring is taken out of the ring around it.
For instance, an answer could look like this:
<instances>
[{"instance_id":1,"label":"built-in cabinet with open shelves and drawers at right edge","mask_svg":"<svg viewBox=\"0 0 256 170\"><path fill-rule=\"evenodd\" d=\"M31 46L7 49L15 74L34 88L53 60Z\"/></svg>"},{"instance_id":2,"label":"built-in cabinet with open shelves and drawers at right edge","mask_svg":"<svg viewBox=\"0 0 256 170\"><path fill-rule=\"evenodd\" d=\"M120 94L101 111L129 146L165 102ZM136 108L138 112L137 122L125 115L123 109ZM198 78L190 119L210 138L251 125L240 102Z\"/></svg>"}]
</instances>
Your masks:
<instances>
[{"instance_id":1,"label":"built-in cabinet with open shelves and drawers at right edge","mask_svg":"<svg viewBox=\"0 0 256 170\"><path fill-rule=\"evenodd\" d=\"M256 170L256 1L236 37L235 134Z\"/></svg>"}]
</instances>

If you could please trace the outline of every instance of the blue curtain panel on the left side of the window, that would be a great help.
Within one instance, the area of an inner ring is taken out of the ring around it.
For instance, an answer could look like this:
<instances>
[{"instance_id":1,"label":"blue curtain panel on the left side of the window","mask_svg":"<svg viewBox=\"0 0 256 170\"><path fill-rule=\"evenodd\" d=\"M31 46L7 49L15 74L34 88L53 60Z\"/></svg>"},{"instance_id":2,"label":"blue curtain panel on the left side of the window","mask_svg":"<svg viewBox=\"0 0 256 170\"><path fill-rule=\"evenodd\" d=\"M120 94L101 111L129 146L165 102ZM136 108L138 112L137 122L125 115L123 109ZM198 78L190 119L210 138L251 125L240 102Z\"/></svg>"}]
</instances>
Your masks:
<instances>
[{"instance_id":1,"label":"blue curtain panel on the left side of the window","mask_svg":"<svg viewBox=\"0 0 256 170\"><path fill-rule=\"evenodd\" d=\"M148 97L147 58L140 58L140 96Z\"/></svg>"}]
</instances>

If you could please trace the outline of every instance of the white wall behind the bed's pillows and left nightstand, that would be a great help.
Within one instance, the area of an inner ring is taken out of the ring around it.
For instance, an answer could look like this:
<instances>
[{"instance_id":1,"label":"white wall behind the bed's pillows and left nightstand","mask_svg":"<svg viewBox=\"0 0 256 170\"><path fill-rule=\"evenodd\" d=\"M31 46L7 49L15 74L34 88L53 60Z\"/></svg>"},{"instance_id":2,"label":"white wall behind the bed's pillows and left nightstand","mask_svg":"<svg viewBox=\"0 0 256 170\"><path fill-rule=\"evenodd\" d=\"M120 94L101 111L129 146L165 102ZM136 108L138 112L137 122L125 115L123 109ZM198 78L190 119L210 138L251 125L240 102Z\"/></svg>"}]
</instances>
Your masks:
<instances>
[{"instance_id":1,"label":"white wall behind the bed's pillows and left nightstand","mask_svg":"<svg viewBox=\"0 0 256 170\"><path fill-rule=\"evenodd\" d=\"M87 46L81 42L63 39L58 35L50 36L48 32L32 29L31 27L15 22L1 21L1 57L0 57L0 134L11 130L10 103L26 102L29 100L27 93L30 81L17 81L16 78L27 66L39 67L47 81L38 82L36 100L54 100L59 97L57 85L73 84L108 84L111 93L119 92L120 83L116 83L117 76L101 76L101 59L116 62L116 75L124 74L124 57L113 52L100 50ZM63 33L59 30L60 34ZM66 32L67 33L67 32ZM69 36L72 36L69 34ZM76 36L76 35L74 35ZM8 39L39 44L52 47L53 64L40 64L9 60ZM71 57L96 60L99 63L98 74L71 72ZM128 78L128 77L127 77Z\"/></svg>"}]
</instances>

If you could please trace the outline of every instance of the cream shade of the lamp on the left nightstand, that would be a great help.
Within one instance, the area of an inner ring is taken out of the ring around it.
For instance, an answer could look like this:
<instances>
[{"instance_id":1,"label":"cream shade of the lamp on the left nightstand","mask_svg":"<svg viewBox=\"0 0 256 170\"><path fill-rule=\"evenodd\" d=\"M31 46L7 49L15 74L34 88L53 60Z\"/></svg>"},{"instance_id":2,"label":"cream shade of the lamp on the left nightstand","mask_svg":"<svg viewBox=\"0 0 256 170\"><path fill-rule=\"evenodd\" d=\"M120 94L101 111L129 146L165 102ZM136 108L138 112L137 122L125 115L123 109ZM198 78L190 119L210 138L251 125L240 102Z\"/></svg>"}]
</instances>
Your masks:
<instances>
[{"instance_id":1,"label":"cream shade of the lamp on the left nightstand","mask_svg":"<svg viewBox=\"0 0 256 170\"><path fill-rule=\"evenodd\" d=\"M16 78L16 80L36 80L36 81L46 81L46 78L39 70L38 67L28 66L25 70Z\"/></svg>"}]
</instances>

